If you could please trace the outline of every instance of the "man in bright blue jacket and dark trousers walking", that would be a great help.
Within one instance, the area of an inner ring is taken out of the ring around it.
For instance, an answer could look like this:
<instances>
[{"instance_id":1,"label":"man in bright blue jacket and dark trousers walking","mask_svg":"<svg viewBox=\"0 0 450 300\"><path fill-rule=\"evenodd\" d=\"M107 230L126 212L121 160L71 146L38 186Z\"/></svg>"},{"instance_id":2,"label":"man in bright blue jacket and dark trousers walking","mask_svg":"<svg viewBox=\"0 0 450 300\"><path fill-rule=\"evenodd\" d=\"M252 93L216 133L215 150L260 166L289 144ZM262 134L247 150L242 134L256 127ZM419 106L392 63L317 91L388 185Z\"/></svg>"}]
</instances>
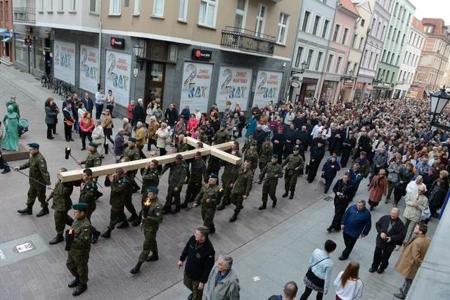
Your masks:
<instances>
[{"instance_id":1,"label":"man in bright blue jacket and dark trousers walking","mask_svg":"<svg viewBox=\"0 0 450 300\"><path fill-rule=\"evenodd\" d=\"M359 237L365 237L371 231L371 212L366 209L366 201L359 200L345 211L342 216L341 230L344 230L345 249L339 256L340 261L349 258L350 253Z\"/></svg>"}]
</instances>

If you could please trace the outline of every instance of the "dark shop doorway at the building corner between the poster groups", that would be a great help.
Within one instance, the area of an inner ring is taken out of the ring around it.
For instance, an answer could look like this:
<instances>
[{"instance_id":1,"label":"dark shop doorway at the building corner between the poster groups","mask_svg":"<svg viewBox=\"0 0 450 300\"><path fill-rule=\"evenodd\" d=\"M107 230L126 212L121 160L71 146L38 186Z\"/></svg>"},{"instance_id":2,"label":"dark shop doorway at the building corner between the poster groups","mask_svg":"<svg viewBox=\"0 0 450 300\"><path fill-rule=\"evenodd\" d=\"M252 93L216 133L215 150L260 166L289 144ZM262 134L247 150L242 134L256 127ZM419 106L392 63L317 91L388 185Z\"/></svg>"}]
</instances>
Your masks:
<instances>
[{"instance_id":1,"label":"dark shop doorway at the building corner between the poster groups","mask_svg":"<svg viewBox=\"0 0 450 300\"><path fill-rule=\"evenodd\" d=\"M150 60L147 67L146 93L144 105L147 107L150 100L155 100L162 107L164 98L165 63Z\"/></svg>"}]
</instances>

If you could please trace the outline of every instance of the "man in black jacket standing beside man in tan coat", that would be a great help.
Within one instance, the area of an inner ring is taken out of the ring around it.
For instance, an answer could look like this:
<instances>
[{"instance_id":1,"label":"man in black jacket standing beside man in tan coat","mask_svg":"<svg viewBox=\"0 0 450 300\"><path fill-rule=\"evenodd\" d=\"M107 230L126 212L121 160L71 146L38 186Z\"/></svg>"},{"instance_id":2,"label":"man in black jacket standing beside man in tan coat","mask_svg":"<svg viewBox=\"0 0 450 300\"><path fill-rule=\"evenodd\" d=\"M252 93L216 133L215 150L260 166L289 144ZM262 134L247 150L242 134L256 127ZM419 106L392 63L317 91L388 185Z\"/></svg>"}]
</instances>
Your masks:
<instances>
[{"instance_id":1,"label":"man in black jacket standing beside man in tan coat","mask_svg":"<svg viewBox=\"0 0 450 300\"><path fill-rule=\"evenodd\" d=\"M392 207L389 215L382 216L375 223L378 235L375 252L373 252L372 267L368 270L371 273L375 271L378 274L383 273L387 265L389 265L392 251L397 245L401 245L406 237L406 227L399 218L399 214L400 210L397 207Z\"/></svg>"}]
</instances>

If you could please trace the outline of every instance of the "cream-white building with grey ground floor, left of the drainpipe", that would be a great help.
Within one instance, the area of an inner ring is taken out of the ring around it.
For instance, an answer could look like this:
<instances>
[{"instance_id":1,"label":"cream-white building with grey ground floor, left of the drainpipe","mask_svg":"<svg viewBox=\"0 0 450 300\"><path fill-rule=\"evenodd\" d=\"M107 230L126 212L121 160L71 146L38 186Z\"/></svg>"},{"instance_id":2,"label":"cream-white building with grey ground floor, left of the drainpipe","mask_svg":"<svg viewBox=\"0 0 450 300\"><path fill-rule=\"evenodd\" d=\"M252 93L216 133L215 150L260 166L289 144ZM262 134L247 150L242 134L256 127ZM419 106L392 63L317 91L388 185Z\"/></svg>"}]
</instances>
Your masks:
<instances>
[{"instance_id":1,"label":"cream-white building with grey ground floor, left of the drainpipe","mask_svg":"<svg viewBox=\"0 0 450 300\"><path fill-rule=\"evenodd\" d=\"M15 8L15 65L96 93L100 1L24 1ZM23 5L23 6L22 6ZM31 16L34 16L32 18Z\"/></svg>"}]
</instances>

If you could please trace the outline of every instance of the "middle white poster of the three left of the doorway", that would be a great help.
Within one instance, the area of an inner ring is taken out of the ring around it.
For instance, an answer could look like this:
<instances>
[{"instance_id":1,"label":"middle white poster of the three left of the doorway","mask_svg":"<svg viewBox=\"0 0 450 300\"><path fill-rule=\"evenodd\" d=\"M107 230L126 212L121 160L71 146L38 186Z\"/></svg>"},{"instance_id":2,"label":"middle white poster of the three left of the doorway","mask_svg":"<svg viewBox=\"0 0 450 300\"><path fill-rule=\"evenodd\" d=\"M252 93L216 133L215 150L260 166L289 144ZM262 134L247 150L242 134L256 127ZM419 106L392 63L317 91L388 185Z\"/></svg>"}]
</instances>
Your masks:
<instances>
[{"instance_id":1,"label":"middle white poster of the three left of the doorway","mask_svg":"<svg viewBox=\"0 0 450 300\"><path fill-rule=\"evenodd\" d=\"M91 93L97 92L98 49L79 45L79 87Z\"/></svg>"}]
</instances>

